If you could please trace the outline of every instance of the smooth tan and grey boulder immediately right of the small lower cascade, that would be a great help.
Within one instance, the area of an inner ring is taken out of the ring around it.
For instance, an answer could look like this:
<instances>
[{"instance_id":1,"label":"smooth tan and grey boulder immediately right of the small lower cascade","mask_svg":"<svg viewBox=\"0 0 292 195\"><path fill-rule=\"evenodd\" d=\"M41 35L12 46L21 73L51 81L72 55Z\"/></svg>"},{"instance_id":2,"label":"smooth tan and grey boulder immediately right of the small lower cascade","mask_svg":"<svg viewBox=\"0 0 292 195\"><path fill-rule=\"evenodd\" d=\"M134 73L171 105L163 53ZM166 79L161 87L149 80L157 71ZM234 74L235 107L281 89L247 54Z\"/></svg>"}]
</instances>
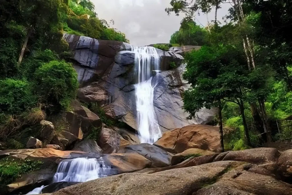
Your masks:
<instances>
[{"instance_id":1,"label":"smooth tan and grey boulder immediately right of the small lower cascade","mask_svg":"<svg viewBox=\"0 0 292 195\"><path fill-rule=\"evenodd\" d=\"M117 175L125 172L134 172L150 167L152 162L135 153L108 154L99 159L106 165L111 166L111 175Z\"/></svg>"}]
</instances>

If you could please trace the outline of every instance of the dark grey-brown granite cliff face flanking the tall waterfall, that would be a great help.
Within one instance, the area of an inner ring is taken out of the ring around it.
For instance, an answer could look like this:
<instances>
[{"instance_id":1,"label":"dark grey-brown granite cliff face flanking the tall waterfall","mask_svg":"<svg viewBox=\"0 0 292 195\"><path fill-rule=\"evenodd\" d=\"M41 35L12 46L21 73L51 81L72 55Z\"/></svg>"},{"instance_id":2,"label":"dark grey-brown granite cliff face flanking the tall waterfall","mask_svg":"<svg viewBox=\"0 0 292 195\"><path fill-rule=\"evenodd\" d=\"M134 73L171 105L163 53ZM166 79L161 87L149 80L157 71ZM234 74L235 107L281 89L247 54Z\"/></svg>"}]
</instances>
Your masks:
<instances>
[{"instance_id":1,"label":"dark grey-brown granite cliff face flanking the tall waterfall","mask_svg":"<svg viewBox=\"0 0 292 195\"><path fill-rule=\"evenodd\" d=\"M64 34L64 39L74 54L74 68L81 84L78 98L88 103L97 103L103 107L108 117L117 118L137 130L134 84L137 83L138 67L134 65L135 53L131 51L133 46L70 34ZM185 50L187 49L182 51ZM178 48L169 51L157 49L157 54L162 72L154 75L152 82L158 82L154 106L159 115L161 130L211 122L216 109L202 109L197 113L197 118L186 120L187 113L182 109L182 95L190 85L182 79L185 64L182 64L183 56ZM172 62L175 62L177 68L170 70Z\"/></svg>"}]
</instances>

